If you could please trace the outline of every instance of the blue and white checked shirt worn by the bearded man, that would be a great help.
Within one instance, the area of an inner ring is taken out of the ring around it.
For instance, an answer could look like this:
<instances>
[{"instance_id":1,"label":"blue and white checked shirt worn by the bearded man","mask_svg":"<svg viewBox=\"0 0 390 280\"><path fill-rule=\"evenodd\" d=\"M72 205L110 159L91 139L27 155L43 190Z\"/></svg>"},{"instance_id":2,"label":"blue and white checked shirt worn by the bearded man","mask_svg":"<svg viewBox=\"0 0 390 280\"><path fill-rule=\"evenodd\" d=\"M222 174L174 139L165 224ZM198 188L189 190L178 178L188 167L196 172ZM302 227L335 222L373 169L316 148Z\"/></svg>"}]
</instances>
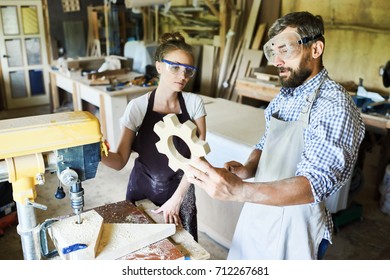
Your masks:
<instances>
[{"instance_id":1,"label":"blue and white checked shirt worn by the bearded man","mask_svg":"<svg viewBox=\"0 0 390 280\"><path fill-rule=\"evenodd\" d=\"M299 118L306 98L325 77L310 112L310 123L304 132L305 147L295 172L311 183L314 203L337 192L350 178L364 138L364 123L348 92L328 77L325 68L297 88L282 88L265 110L266 127L255 146L262 150L267 140L271 115L277 110L284 121ZM324 238L332 241L332 216L327 211Z\"/></svg>"}]
</instances>

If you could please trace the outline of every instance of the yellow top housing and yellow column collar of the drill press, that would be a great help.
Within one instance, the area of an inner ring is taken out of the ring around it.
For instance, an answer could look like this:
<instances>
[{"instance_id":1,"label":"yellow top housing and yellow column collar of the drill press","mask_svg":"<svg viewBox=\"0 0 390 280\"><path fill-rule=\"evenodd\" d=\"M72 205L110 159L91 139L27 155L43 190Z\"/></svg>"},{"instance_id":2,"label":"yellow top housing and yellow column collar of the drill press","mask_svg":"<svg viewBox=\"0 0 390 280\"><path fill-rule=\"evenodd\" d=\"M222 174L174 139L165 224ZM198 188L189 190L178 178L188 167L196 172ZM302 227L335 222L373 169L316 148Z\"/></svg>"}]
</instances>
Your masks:
<instances>
[{"instance_id":1,"label":"yellow top housing and yellow column collar of the drill press","mask_svg":"<svg viewBox=\"0 0 390 280\"><path fill-rule=\"evenodd\" d=\"M45 172L42 153L101 142L98 119L89 112L64 112L0 121L0 160L7 163L14 200L34 201Z\"/></svg>"}]
</instances>

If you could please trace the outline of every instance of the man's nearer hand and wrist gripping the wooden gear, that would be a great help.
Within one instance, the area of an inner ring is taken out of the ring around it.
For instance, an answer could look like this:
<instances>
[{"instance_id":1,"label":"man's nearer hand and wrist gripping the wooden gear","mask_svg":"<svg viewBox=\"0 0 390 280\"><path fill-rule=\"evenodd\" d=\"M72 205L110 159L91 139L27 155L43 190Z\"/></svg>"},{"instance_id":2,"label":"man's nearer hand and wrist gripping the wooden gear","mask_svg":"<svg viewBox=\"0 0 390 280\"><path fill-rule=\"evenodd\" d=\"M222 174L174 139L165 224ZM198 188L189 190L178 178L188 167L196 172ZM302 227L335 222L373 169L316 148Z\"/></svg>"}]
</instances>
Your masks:
<instances>
[{"instance_id":1,"label":"man's nearer hand and wrist gripping the wooden gear","mask_svg":"<svg viewBox=\"0 0 390 280\"><path fill-rule=\"evenodd\" d=\"M205 159L194 158L184 172L190 183L219 200L244 201L243 181L226 168L215 168Z\"/></svg>"}]
</instances>

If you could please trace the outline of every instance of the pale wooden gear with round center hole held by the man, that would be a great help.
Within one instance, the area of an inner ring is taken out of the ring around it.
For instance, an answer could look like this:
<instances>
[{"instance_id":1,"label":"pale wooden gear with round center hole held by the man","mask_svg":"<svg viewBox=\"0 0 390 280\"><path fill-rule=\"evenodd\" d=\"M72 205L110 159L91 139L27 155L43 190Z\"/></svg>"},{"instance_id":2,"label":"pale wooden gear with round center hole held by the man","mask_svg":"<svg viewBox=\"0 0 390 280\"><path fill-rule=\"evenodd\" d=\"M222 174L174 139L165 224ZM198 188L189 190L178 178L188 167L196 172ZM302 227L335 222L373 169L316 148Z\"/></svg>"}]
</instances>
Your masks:
<instances>
[{"instance_id":1,"label":"pale wooden gear with round center hole held by the man","mask_svg":"<svg viewBox=\"0 0 390 280\"><path fill-rule=\"evenodd\" d=\"M180 154L173 144L173 136L181 138L191 151L192 157L203 157L210 152L210 146L196 135L196 125L191 121L181 124L175 114L168 114L154 125L154 132L160 137L157 150L168 157L168 166L173 170L183 169L190 159Z\"/></svg>"}]
</instances>

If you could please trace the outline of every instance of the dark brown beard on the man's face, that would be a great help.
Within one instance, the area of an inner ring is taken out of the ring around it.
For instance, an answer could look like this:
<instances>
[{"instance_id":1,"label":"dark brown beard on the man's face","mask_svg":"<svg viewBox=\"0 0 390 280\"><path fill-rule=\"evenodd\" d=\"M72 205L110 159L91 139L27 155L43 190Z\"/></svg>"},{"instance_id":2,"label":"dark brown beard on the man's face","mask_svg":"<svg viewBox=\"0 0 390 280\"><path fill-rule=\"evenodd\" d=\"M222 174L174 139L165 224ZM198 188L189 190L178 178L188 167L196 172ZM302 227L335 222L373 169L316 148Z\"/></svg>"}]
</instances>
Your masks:
<instances>
[{"instance_id":1,"label":"dark brown beard on the man's face","mask_svg":"<svg viewBox=\"0 0 390 280\"><path fill-rule=\"evenodd\" d=\"M312 74L312 69L308 66L310 54L305 55L299 63L298 69L294 70L290 67L279 67L280 71L289 71L289 77L281 77L280 83L283 87L296 88L302 85L308 77Z\"/></svg>"}]
</instances>

